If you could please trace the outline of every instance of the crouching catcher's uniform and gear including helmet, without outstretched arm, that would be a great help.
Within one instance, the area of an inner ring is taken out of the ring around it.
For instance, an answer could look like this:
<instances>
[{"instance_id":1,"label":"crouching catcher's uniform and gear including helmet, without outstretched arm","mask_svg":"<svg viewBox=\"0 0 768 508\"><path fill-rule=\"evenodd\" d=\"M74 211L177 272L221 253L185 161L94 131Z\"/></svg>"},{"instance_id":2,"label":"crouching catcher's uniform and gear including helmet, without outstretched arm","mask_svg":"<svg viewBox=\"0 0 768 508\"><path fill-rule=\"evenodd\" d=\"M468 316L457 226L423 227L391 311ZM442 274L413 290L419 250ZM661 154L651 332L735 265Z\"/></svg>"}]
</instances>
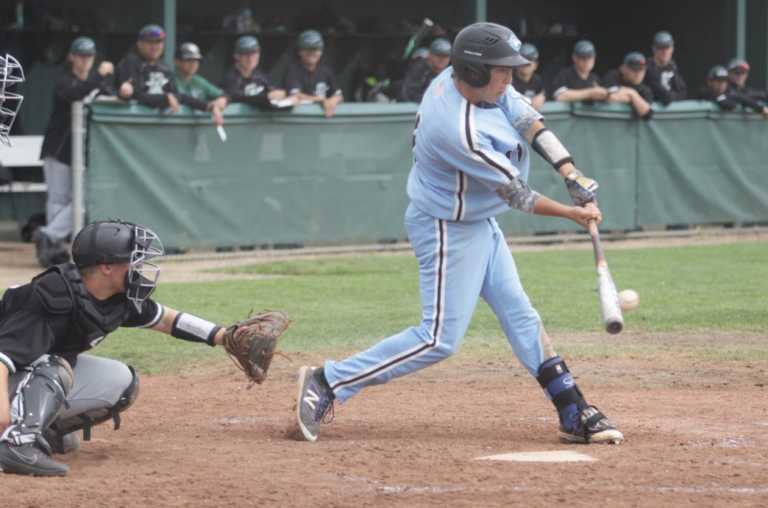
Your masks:
<instances>
[{"instance_id":1,"label":"crouching catcher's uniform and gear including helmet, without outstretched arm","mask_svg":"<svg viewBox=\"0 0 768 508\"><path fill-rule=\"evenodd\" d=\"M151 327L163 314L149 298L158 272L147 261L163 253L150 230L90 224L72 252L77 265L51 267L0 301L0 362L10 372L11 399L11 426L0 436L5 472L64 475L67 466L50 456L78 445L74 431L84 429L87 440L92 425L113 419L118 428L119 413L138 395L138 376L121 362L83 353L118 327ZM126 292L106 300L88 292L79 267L100 263L130 263Z\"/></svg>"}]
</instances>

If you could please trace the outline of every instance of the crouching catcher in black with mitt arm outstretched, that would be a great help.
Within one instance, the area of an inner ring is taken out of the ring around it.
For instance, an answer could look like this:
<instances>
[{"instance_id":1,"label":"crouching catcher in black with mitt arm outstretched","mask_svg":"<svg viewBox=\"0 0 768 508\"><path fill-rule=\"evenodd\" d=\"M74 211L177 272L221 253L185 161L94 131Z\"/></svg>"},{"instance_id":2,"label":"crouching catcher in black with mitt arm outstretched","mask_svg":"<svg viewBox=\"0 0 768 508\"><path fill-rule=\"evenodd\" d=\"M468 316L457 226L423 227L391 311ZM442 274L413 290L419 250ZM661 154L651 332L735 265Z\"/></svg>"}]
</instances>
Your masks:
<instances>
[{"instance_id":1,"label":"crouching catcher in black with mitt arm outstretched","mask_svg":"<svg viewBox=\"0 0 768 508\"><path fill-rule=\"evenodd\" d=\"M0 469L63 476L52 458L80 446L94 425L113 420L139 393L136 371L85 353L120 326L222 345L252 383L264 381L288 326L265 312L223 328L150 298L164 253L155 233L120 221L94 222L72 244L74 263L56 265L0 300Z\"/></svg>"}]
</instances>

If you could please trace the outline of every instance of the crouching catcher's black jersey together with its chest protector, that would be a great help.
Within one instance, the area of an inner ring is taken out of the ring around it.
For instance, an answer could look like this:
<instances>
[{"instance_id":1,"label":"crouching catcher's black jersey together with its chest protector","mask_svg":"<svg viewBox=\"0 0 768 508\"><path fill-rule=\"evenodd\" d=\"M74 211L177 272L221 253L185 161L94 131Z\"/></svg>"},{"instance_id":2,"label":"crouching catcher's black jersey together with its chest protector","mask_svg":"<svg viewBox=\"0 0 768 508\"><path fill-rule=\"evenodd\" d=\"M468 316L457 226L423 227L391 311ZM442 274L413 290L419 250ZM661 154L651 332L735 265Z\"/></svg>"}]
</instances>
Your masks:
<instances>
[{"instance_id":1,"label":"crouching catcher's black jersey together with its chest protector","mask_svg":"<svg viewBox=\"0 0 768 508\"><path fill-rule=\"evenodd\" d=\"M14 372L50 353L74 366L78 354L118 327L151 327L162 317L162 306L151 299L137 311L124 293L97 300L83 288L71 263L9 288L0 300L0 362Z\"/></svg>"}]
</instances>

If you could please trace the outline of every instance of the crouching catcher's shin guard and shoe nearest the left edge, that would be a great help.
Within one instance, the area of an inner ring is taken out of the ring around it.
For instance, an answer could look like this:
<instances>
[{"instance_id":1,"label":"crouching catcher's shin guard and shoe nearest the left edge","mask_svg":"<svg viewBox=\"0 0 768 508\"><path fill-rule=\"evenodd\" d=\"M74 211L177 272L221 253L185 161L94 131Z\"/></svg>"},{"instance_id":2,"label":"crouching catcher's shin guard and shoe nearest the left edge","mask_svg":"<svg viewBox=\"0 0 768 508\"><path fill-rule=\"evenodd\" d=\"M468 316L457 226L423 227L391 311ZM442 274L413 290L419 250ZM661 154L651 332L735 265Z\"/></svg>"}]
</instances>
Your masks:
<instances>
[{"instance_id":1,"label":"crouching catcher's shin guard and shoe nearest the left edge","mask_svg":"<svg viewBox=\"0 0 768 508\"><path fill-rule=\"evenodd\" d=\"M69 468L50 458L43 437L66 404L73 375L69 363L45 355L30 365L11 401L12 424L0 436L0 468L6 473L63 476Z\"/></svg>"}]
</instances>

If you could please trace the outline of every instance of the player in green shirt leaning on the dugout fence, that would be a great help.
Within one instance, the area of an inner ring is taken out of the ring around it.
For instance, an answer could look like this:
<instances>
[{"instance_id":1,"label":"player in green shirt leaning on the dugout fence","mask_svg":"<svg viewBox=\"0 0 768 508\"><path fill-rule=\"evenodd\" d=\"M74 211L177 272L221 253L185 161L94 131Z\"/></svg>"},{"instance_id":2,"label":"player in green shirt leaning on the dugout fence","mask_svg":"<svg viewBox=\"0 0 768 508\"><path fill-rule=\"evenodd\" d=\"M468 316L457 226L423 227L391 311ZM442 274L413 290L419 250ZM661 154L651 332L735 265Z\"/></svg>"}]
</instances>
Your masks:
<instances>
[{"instance_id":1,"label":"player in green shirt leaning on the dugout fence","mask_svg":"<svg viewBox=\"0 0 768 508\"><path fill-rule=\"evenodd\" d=\"M227 97L224 91L197 73L203 55L194 42L185 42L176 50L174 86L179 102L198 111L210 111L216 125L224 124Z\"/></svg>"}]
</instances>

